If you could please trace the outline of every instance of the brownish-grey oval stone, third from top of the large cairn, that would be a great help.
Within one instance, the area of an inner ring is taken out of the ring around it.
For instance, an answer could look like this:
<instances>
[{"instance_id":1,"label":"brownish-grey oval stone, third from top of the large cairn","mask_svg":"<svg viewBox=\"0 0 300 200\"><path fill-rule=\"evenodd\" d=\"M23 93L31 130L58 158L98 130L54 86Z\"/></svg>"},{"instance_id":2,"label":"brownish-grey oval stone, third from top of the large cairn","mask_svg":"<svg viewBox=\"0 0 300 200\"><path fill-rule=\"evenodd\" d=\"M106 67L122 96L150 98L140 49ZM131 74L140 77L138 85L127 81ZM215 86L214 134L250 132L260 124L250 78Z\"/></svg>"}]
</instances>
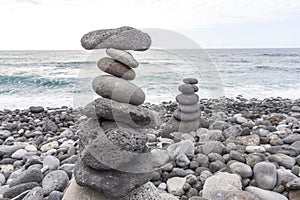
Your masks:
<instances>
[{"instance_id":1,"label":"brownish-grey oval stone, third from top of the large cairn","mask_svg":"<svg viewBox=\"0 0 300 200\"><path fill-rule=\"evenodd\" d=\"M111 58L101 58L97 65L99 69L113 76L123 78L125 80L133 80L135 78L135 72L133 69Z\"/></svg>"}]
</instances>

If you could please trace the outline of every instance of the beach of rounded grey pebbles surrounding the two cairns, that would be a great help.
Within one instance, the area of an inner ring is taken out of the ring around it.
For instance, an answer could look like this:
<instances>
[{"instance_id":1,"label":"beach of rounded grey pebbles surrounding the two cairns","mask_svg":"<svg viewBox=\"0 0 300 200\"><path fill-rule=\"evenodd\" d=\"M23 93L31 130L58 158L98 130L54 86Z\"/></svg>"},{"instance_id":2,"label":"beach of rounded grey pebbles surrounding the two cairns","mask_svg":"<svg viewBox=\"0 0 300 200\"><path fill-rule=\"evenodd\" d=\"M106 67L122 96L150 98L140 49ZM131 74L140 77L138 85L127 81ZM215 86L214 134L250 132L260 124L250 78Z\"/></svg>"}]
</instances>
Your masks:
<instances>
[{"instance_id":1,"label":"beach of rounded grey pebbles surrounding the two cairns","mask_svg":"<svg viewBox=\"0 0 300 200\"><path fill-rule=\"evenodd\" d=\"M147 145L165 199L300 199L300 99L200 99L199 128L170 134L177 102L142 107L163 122L147 129ZM1 110L0 198L62 199L87 119L81 108Z\"/></svg>"}]
</instances>

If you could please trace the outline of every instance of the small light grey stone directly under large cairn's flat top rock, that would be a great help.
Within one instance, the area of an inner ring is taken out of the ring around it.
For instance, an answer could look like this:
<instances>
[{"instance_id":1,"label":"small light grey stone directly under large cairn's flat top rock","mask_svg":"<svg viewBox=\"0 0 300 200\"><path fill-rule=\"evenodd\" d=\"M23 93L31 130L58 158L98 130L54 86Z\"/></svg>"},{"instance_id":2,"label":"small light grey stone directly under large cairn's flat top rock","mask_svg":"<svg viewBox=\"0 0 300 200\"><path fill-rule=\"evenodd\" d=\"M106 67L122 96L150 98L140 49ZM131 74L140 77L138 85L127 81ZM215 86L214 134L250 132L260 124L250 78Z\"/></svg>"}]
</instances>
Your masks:
<instances>
[{"instance_id":1,"label":"small light grey stone directly under large cairn's flat top rock","mask_svg":"<svg viewBox=\"0 0 300 200\"><path fill-rule=\"evenodd\" d=\"M106 49L106 53L114 60L117 60L128 67L136 68L139 66L139 63L133 58L131 53L127 51L109 48Z\"/></svg>"}]
</instances>

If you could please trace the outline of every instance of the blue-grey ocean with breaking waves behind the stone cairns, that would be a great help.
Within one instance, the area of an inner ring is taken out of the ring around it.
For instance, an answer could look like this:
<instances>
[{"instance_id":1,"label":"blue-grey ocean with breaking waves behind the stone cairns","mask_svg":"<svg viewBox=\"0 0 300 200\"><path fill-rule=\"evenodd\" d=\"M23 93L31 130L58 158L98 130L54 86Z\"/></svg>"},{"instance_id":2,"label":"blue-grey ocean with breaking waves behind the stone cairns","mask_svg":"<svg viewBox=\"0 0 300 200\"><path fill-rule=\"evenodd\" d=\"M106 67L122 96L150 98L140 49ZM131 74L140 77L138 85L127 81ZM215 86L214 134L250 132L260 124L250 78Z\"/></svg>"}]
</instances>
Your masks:
<instances>
[{"instance_id":1,"label":"blue-grey ocean with breaking waves behind the stone cairns","mask_svg":"<svg viewBox=\"0 0 300 200\"><path fill-rule=\"evenodd\" d=\"M174 101L186 77L200 98L300 98L300 49L207 49L131 52L140 66L133 82L146 102ZM0 109L81 107L102 72L97 51L0 51Z\"/></svg>"}]
</instances>

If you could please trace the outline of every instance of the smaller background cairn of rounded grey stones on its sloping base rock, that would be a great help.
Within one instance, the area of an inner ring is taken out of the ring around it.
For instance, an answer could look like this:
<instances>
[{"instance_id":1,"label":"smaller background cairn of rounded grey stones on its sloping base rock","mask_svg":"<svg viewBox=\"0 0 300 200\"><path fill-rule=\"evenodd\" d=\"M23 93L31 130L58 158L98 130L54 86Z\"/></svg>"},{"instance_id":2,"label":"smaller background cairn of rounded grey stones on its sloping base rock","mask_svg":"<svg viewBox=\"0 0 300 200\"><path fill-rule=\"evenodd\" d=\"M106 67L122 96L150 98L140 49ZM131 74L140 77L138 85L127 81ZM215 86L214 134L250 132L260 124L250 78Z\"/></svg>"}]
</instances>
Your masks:
<instances>
[{"instance_id":1,"label":"smaller background cairn of rounded grey stones on its sloping base rock","mask_svg":"<svg viewBox=\"0 0 300 200\"><path fill-rule=\"evenodd\" d=\"M199 108L199 96L195 78L183 79L182 85L178 87L181 94L176 96L178 108L173 117L167 122L162 131L163 137L172 138L173 132L191 132L199 128L201 111Z\"/></svg>"}]
</instances>

